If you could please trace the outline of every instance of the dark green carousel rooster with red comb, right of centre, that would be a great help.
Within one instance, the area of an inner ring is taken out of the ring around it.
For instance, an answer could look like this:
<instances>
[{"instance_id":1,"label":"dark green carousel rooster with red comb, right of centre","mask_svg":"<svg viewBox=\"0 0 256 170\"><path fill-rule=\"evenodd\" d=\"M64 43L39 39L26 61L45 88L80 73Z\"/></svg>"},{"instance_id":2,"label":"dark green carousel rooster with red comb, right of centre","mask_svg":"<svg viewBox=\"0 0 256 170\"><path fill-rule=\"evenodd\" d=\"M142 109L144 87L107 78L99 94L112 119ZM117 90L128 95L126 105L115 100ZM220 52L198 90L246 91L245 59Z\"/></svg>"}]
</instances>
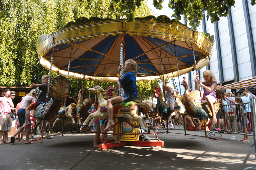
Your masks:
<instances>
[{"instance_id":1,"label":"dark green carousel rooster with red comb, right of centre","mask_svg":"<svg viewBox=\"0 0 256 170\"><path fill-rule=\"evenodd\" d=\"M157 110L158 110L158 116L161 117L161 120L165 120L167 117L172 118L172 116L170 116L172 113L170 111L170 108L167 104L165 104L165 102L163 101L163 97L161 94L161 89L159 87L156 87L155 90L153 90L155 92L154 97L157 98ZM160 121L161 121L160 120ZM177 121L178 124L183 124L183 122Z\"/></svg>"}]
</instances>

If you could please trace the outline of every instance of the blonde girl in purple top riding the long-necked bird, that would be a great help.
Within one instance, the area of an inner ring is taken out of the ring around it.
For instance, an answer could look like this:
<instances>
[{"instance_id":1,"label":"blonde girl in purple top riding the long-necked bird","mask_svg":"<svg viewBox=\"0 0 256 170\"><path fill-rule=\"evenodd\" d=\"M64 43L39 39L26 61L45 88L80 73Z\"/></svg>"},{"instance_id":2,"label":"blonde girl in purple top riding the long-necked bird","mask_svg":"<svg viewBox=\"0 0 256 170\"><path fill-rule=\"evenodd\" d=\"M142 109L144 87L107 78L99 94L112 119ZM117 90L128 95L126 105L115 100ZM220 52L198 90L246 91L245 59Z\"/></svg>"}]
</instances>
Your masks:
<instances>
[{"instance_id":1,"label":"blonde girl in purple top riding the long-necked bird","mask_svg":"<svg viewBox=\"0 0 256 170\"><path fill-rule=\"evenodd\" d=\"M205 79L205 82L201 82L199 80L199 74L196 74L196 80L195 80L195 90L199 89L199 86L197 82L201 85L201 87L204 89L204 95L202 99L207 102L211 113L212 113L212 123L216 124L217 123L217 118L214 112L214 107L213 104L216 103L218 100L216 98L216 86L217 86L217 81L215 76L212 74L210 70L206 70L203 72L203 76Z\"/></svg>"}]
</instances>

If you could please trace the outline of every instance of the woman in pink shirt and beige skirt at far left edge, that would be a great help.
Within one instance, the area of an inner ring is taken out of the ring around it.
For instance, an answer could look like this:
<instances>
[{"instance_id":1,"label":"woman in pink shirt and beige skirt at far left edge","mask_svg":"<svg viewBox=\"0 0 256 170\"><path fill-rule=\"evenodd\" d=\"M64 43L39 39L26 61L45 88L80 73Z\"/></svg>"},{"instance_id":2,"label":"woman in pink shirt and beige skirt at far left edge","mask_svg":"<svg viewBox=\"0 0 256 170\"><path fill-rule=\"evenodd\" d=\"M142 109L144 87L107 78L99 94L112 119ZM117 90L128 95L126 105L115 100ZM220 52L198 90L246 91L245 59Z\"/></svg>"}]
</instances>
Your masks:
<instances>
[{"instance_id":1,"label":"woman in pink shirt and beige skirt at far left edge","mask_svg":"<svg viewBox=\"0 0 256 170\"><path fill-rule=\"evenodd\" d=\"M0 98L0 145L3 144L3 141L5 143L9 143L7 139L7 130L11 130L11 124L10 124L10 112L11 107L14 107L13 102L9 98L10 96L10 90L5 89L4 90L4 96ZM2 138L4 134L4 138Z\"/></svg>"}]
</instances>

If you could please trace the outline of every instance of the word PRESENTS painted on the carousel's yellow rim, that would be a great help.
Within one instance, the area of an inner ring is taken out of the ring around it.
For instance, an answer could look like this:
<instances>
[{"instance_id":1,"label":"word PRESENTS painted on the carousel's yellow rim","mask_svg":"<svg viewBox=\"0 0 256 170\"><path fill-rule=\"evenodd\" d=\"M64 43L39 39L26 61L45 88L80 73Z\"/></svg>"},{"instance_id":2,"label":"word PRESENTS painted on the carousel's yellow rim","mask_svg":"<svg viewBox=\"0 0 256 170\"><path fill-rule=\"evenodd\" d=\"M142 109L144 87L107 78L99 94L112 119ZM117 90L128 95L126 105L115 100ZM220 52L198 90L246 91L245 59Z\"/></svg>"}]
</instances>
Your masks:
<instances>
[{"instance_id":1,"label":"word PRESENTS painted on the carousel's yellow rim","mask_svg":"<svg viewBox=\"0 0 256 170\"><path fill-rule=\"evenodd\" d=\"M134 30L137 31L140 28L140 23L135 23ZM150 31L149 31L150 30ZM170 27L170 26L156 26L156 25L148 25L143 23L142 31L144 32L157 32L157 33L164 33L169 35L179 35L183 37L188 36L188 30L183 28L177 27Z\"/></svg>"}]
</instances>

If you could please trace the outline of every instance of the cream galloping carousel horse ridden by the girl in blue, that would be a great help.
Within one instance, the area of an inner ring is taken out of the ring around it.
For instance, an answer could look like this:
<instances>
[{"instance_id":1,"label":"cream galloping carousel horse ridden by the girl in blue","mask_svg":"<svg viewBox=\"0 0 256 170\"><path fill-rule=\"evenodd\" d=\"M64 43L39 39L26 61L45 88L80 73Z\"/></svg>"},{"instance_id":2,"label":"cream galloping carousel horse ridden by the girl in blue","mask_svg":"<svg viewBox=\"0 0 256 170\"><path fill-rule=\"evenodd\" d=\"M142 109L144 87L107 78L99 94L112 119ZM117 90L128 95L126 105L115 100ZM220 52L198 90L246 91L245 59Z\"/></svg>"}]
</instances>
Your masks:
<instances>
[{"instance_id":1,"label":"cream galloping carousel horse ridden by the girl in blue","mask_svg":"<svg viewBox=\"0 0 256 170\"><path fill-rule=\"evenodd\" d=\"M84 121L83 125L81 125L81 128L86 127L86 124L89 122L89 120L92 118L88 128L92 126L92 123L98 119L98 118L107 118L108 117L108 107L107 107L107 100L108 95L107 92L101 88L100 86L96 85L95 88L89 88L90 93L94 93L97 95L99 107L98 110L92 114L90 114L87 119ZM130 101L130 102L121 102L121 103L114 103L114 118L127 118L136 122L139 122L142 129L146 132L149 132L149 130L146 128L146 125L142 119L138 115L139 107L143 114L146 114L150 108L150 106L146 106L145 103L139 103L138 100Z\"/></svg>"}]
</instances>

